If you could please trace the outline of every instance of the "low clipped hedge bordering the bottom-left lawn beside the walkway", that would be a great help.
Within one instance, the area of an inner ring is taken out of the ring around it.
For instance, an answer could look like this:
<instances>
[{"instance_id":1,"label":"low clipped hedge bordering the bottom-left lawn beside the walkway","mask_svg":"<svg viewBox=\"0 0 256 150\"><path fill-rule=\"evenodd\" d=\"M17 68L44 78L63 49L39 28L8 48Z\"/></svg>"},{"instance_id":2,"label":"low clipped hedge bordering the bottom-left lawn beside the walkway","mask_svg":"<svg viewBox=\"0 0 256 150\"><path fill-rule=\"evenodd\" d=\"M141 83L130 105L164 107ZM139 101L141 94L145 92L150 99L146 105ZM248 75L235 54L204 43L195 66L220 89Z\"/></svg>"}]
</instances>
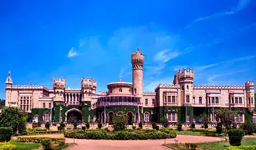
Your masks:
<instances>
[{"instance_id":1,"label":"low clipped hedge bordering the bottom-left lawn beside the walkway","mask_svg":"<svg viewBox=\"0 0 256 150\"><path fill-rule=\"evenodd\" d=\"M32 143L42 143L44 140L51 140L51 142L57 143L58 146L65 144L64 138L45 138L45 137L30 137L30 136L18 136L18 142L32 142Z\"/></svg>"}]
</instances>

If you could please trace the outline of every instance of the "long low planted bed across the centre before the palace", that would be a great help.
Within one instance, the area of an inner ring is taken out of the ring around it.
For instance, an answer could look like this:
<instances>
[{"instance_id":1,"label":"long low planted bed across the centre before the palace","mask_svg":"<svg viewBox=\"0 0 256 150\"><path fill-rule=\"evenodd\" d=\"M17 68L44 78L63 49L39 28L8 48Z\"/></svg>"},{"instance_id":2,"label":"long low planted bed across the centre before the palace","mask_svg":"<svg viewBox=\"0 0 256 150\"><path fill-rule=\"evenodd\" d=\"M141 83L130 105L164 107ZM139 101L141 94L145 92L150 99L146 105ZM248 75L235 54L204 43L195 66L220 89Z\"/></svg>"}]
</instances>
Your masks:
<instances>
[{"instance_id":1,"label":"long low planted bed across the centre before the palace","mask_svg":"<svg viewBox=\"0 0 256 150\"><path fill-rule=\"evenodd\" d=\"M176 138L173 130L121 130L110 132L108 130L75 130L64 132L65 138L93 139L93 140L156 140L165 138Z\"/></svg>"}]
</instances>

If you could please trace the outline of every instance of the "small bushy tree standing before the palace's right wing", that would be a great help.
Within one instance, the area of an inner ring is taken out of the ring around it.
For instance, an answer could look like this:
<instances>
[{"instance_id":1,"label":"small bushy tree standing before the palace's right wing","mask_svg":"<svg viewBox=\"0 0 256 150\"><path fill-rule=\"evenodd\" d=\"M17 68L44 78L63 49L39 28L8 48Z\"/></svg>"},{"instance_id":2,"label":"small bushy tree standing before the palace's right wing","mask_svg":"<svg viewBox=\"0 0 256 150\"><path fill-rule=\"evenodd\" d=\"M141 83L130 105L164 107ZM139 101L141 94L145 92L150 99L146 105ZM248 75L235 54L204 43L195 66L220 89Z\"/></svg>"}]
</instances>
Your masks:
<instances>
[{"instance_id":1,"label":"small bushy tree standing before the palace's right wing","mask_svg":"<svg viewBox=\"0 0 256 150\"><path fill-rule=\"evenodd\" d=\"M216 118L221 121L221 124L229 130L232 123L235 121L236 112L230 110L229 108L220 108L215 110Z\"/></svg>"}]
</instances>

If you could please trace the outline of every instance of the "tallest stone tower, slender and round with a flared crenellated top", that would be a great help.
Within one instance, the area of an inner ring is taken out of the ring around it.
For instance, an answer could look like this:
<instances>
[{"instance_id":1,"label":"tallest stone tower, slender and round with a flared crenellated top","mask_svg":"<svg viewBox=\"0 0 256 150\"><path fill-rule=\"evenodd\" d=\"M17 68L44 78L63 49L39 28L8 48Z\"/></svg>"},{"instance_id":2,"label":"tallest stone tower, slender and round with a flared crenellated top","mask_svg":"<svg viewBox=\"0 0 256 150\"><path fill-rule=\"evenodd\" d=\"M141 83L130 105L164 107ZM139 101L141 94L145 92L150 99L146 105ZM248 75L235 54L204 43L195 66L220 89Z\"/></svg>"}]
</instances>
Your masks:
<instances>
[{"instance_id":1,"label":"tallest stone tower, slender and round with a flared crenellated top","mask_svg":"<svg viewBox=\"0 0 256 150\"><path fill-rule=\"evenodd\" d=\"M131 64L133 65L133 95L142 97L144 54L139 48L136 53L131 54Z\"/></svg>"}]
</instances>

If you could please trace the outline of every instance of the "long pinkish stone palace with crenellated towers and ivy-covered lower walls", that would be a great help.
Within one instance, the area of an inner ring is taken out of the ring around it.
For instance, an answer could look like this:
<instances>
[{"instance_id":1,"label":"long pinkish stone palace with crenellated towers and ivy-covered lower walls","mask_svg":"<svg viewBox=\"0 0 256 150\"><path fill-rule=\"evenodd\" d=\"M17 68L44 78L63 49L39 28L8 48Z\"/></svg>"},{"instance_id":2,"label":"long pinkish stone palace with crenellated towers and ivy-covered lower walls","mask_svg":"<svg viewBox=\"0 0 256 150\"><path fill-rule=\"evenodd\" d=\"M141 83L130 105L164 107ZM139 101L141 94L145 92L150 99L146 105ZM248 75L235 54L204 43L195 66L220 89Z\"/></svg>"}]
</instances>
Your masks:
<instances>
[{"instance_id":1,"label":"long pinkish stone palace with crenellated towers and ivy-covered lower walls","mask_svg":"<svg viewBox=\"0 0 256 150\"><path fill-rule=\"evenodd\" d=\"M111 123L112 116L125 113L129 124L156 121L202 123L205 116L215 122L214 110L229 108L238 112L237 123L253 118L254 83L245 85L194 85L194 70L183 68L173 84L160 83L152 93L143 93L144 54L131 54L133 83L117 81L108 91L96 93L93 78L81 78L80 89L66 88L65 78L53 78L53 89L43 85L13 85L11 72L5 82L5 106L30 113L36 121ZM256 118L256 116L254 116Z\"/></svg>"}]
</instances>

